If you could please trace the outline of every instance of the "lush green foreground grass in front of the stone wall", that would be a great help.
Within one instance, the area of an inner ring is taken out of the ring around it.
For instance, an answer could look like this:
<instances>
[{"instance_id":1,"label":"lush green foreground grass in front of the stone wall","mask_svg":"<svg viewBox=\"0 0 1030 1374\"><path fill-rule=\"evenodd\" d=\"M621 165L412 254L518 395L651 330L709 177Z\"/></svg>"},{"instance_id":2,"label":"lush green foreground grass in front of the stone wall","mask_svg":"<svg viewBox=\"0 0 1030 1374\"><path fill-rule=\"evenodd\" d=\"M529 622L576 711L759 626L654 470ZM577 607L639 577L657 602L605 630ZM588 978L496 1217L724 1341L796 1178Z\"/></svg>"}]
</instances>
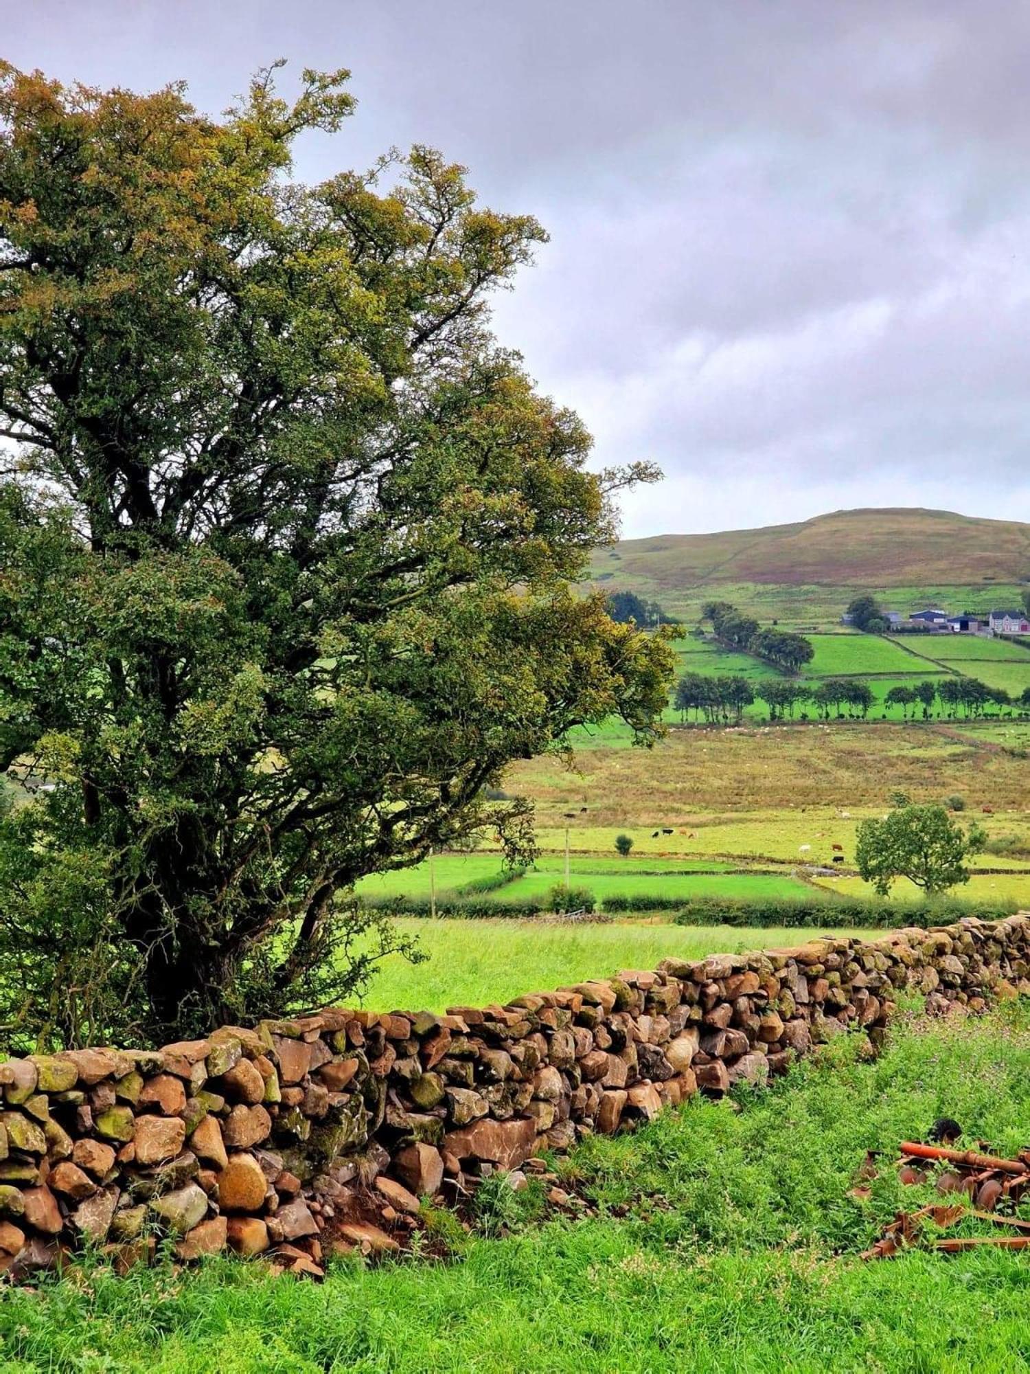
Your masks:
<instances>
[{"instance_id":1,"label":"lush green foreground grass in front of the stone wall","mask_svg":"<svg viewBox=\"0 0 1030 1374\"><path fill-rule=\"evenodd\" d=\"M916 1021L876 1062L835 1041L739 1112L700 1099L563 1169L600 1206L520 1219L450 1263L332 1265L320 1287L216 1260L117 1279L104 1268L14 1290L0 1369L19 1374L1018 1374L1030 1369L1026 1256L858 1253L898 1206L897 1143L942 1114L1001 1150L1030 1140L1023 1011ZM865 1151L884 1171L849 1197ZM511 1197L511 1195L508 1195ZM522 1194L520 1197L525 1197ZM619 1219L613 1205L628 1206ZM1026 1212L1026 1209L1025 1209Z\"/></svg>"}]
</instances>

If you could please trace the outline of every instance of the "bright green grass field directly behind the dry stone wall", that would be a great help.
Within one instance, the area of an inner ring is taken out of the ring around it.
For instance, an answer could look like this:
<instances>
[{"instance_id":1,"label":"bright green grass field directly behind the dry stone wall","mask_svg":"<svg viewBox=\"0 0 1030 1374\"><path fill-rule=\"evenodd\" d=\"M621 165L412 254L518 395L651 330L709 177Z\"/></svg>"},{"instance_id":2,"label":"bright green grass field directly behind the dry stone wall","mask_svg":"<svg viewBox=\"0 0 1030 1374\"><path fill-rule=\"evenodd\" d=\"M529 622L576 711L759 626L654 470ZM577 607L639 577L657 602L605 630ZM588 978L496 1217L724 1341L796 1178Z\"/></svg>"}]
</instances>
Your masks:
<instances>
[{"instance_id":1,"label":"bright green grass field directly behind the dry stone wall","mask_svg":"<svg viewBox=\"0 0 1030 1374\"><path fill-rule=\"evenodd\" d=\"M729 926L652 926L629 921L541 925L538 921L500 918L409 918L396 925L405 936L413 936L428 958L423 963L411 963L402 955L387 955L363 998L363 1004L375 1011L478 1007L584 978L611 977L619 969L654 969L659 960L673 955L703 959L709 954L769 949L814 937L812 930L786 930L781 926L739 930ZM878 937L872 934L872 938Z\"/></svg>"}]
</instances>

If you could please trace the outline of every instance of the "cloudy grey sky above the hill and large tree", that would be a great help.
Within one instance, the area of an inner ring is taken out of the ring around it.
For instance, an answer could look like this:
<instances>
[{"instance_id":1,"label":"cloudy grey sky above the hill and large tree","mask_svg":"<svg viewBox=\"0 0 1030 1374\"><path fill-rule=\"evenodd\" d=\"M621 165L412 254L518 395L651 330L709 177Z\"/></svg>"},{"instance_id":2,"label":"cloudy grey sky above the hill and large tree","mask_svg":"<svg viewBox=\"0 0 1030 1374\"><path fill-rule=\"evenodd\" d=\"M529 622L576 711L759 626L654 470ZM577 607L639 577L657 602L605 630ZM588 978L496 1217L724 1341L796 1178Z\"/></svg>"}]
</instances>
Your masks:
<instances>
[{"instance_id":1,"label":"cloudy grey sky above the hill and large tree","mask_svg":"<svg viewBox=\"0 0 1030 1374\"><path fill-rule=\"evenodd\" d=\"M656 462L626 537L856 506L1030 521L1030 5L1019 0L0 0L0 56L185 80L349 67L321 180L415 142L549 231L494 326Z\"/></svg>"}]
</instances>

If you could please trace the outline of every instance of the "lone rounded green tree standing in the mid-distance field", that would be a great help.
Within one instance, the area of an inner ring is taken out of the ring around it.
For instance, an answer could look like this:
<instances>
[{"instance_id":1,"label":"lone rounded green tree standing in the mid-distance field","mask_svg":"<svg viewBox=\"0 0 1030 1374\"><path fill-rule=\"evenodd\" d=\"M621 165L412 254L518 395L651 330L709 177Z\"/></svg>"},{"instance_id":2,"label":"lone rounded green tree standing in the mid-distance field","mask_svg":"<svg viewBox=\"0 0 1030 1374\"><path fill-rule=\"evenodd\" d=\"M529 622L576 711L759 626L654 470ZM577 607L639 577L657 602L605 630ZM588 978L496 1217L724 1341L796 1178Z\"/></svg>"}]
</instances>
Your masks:
<instances>
[{"instance_id":1,"label":"lone rounded green tree standing in the mid-distance field","mask_svg":"<svg viewBox=\"0 0 1030 1374\"><path fill-rule=\"evenodd\" d=\"M895 805L883 820L858 824L856 860L858 872L886 897L897 878L908 878L927 896L968 882L968 855L979 853L983 831L968 831L939 805Z\"/></svg>"}]
</instances>

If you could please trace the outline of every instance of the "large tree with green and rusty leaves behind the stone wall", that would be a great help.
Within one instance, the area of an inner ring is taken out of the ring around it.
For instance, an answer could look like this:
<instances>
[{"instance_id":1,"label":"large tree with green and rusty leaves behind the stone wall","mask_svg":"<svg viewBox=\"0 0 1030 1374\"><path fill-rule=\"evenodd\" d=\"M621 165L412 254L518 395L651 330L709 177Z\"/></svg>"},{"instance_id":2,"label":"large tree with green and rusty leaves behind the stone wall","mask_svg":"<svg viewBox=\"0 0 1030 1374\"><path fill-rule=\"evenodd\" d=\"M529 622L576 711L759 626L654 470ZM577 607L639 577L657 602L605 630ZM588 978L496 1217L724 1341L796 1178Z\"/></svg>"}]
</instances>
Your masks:
<instances>
[{"instance_id":1,"label":"large tree with green and rusty leaves behind the stone wall","mask_svg":"<svg viewBox=\"0 0 1030 1374\"><path fill-rule=\"evenodd\" d=\"M577 723L658 730L666 643L569 588L651 473L489 333L542 231L422 147L291 183L345 80L216 121L0 66L10 1036L339 996L354 879L516 845L483 786Z\"/></svg>"}]
</instances>

